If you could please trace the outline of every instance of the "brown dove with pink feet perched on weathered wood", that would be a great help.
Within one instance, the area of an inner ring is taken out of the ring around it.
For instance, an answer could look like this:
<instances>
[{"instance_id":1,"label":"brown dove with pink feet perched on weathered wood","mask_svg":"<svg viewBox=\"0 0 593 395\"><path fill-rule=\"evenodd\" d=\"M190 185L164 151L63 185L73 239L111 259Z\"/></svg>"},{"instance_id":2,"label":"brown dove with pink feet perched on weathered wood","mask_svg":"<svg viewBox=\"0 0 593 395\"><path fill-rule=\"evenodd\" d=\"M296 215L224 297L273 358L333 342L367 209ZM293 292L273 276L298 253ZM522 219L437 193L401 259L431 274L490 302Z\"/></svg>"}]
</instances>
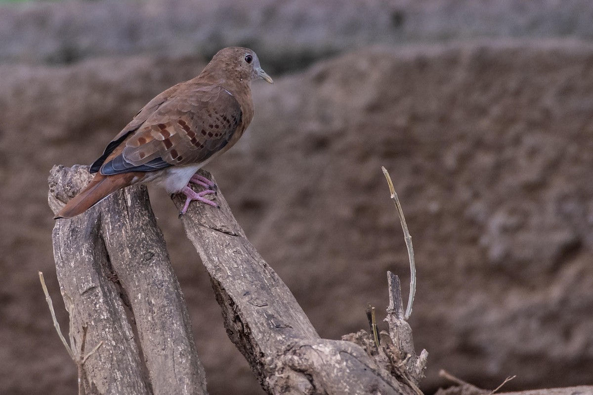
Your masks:
<instances>
[{"instance_id":1,"label":"brown dove with pink feet perched on weathered wood","mask_svg":"<svg viewBox=\"0 0 593 395\"><path fill-rule=\"evenodd\" d=\"M154 183L167 192L216 205L203 198L213 184L196 171L232 147L253 118L251 81L272 78L254 51L224 48L194 79L165 90L141 109L91 165L95 177L56 218L71 218L111 193L136 183ZM206 189L200 193L189 182Z\"/></svg>"}]
</instances>

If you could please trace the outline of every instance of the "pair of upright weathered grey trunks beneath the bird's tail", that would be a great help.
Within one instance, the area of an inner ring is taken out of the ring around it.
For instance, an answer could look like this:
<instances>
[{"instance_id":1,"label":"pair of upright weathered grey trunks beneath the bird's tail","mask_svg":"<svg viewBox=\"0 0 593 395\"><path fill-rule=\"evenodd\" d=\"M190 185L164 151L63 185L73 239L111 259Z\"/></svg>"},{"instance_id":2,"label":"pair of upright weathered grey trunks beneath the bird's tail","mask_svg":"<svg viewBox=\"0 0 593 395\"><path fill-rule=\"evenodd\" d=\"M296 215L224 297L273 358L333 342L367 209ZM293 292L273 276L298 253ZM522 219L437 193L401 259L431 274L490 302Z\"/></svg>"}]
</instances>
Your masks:
<instances>
[{"instance_id":1,"label":"pair of upright weathered grey trunks beneath the bird's tail","mask_svg":"<svg viewBox=\"0 0 593 395\"><path fill-rule=\"evenodd\" d=\"M87 166L54 167L53 212L88 180ZM89 344L104 342L85 362L87 393L206 393L187 307L145 187L129 187L82 215L59 219L53 248L66 310L73 312L74 342L81 344L85 325Z\"/></svg>"}]
</instances>

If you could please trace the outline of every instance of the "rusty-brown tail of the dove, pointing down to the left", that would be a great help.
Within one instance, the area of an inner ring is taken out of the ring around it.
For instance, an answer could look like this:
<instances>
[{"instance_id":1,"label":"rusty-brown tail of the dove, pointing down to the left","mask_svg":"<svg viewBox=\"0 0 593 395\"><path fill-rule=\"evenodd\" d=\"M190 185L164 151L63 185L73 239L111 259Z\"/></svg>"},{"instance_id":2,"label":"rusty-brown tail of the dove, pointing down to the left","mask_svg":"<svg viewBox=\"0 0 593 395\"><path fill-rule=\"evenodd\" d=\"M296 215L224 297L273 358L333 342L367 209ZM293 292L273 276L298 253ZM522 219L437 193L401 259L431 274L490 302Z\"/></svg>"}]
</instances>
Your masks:
<instances>
[{"instance_id":1,"label":"rusty-brown tail of the dove, pointing down to the left","mask_svg":"<svg viewBox=\"0 0 593 395\"><path fill-rule=\"evenodd\" d=\"M53 219L72 218L87 211L101 200L107 198L111 193L130 185L133 176L133 173L116 174L114 176L104 176L97 173L87 187L70 199Z\"/></svg>"}]
</instances>

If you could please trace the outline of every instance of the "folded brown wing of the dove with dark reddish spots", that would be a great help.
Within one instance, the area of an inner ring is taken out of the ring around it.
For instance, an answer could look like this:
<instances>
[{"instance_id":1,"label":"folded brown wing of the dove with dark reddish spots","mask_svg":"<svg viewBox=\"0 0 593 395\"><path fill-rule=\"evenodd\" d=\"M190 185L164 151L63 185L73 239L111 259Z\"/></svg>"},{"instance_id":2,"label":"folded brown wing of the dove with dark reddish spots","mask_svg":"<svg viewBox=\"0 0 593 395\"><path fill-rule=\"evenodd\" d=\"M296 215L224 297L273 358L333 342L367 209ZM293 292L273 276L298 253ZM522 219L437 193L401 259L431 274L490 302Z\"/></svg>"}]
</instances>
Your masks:
<instances>
[{"instance_id":1,"label":"folded brown wing of the dove with dark reddish spots","mask_svg":"<svg viewBox=\"0 0 593 395\"><path fill-rule=\"evenodd\" d=\"M117 146L125 141L125 147L101 166L101 174L201 163L222 150L241 123L237 99L214 85L184 86L164 102L153 103L152 108L151 114L144 115L146 119L141 121L145 109L149 111L146 105L136 115L140 119L130 122L132 131L126 133L126 127L110 143Z\"/></svg>"}]
</instances>

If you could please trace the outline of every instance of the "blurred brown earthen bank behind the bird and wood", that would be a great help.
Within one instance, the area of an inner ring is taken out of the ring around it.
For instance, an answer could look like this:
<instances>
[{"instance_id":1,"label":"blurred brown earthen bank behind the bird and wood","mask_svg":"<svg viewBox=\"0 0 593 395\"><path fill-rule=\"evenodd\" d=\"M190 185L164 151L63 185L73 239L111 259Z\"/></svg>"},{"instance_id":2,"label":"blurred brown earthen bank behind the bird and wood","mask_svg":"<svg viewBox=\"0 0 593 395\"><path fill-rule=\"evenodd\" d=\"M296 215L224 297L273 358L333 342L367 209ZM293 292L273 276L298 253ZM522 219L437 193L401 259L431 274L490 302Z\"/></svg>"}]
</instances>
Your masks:
<instances>
[{"instance_id":1,"label":"blurred brown earthen bank behind the bird and wood","mask_svg":"<svg viewBox=\"0 0 593 395\"><path fill-rule=\"evenodd\" d=\"M321 336L367 329L409 278L429 364L506 390L593 383L593 3L93 1L0 5L0 393L75 394L37 271L47 176L91 163L149 99L219 48L275 85L212 171ZM262 394L228 340L168 196L151 190L211 394ZM404 289L407 294L407 289Z\"/></svg>"}]
</instances>

